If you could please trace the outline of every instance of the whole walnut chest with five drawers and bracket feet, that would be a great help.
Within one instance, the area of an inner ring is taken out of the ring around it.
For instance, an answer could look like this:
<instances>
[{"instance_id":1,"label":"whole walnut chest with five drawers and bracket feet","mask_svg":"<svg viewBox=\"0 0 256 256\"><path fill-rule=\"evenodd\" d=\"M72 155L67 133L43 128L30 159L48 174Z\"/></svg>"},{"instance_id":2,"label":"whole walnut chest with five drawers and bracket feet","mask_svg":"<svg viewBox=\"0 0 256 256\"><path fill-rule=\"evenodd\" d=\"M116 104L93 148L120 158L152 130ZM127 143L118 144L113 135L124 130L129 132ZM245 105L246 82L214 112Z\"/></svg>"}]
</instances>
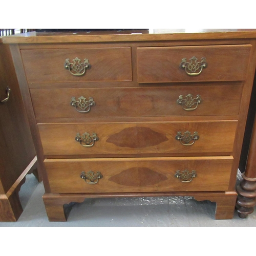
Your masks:
<instances>
[{"instance_id":1,"label":"whole walnut chest with five drawers and bracket feet","mask_svg":"<svg viewBox=\"0 0 256 256\"><path fill-rule=\"evenodd\" d=\"M7 37L50 221L97 197L193 196L231 219L255 31Z\"/></svg>"}]
</instances>

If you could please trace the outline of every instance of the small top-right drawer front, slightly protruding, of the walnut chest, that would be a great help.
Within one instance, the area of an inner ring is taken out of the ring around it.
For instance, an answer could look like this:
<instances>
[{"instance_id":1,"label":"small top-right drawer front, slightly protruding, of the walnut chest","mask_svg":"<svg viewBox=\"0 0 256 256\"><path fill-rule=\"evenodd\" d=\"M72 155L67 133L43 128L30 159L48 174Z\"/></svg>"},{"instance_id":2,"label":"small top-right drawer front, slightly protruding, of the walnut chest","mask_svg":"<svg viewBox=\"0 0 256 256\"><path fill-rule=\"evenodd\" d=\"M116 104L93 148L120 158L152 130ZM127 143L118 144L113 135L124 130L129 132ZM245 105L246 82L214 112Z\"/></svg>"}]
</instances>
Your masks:
<instances>
[{"instance_id":1,"label":"small top-right drawer front, slightly protruding, of the walnut chest","mask_svg":"<svg viewBox=\"0 0 256 256\"><path fill-rule=\"evenodd\" d=\"M138 82L245 80L250 51L251 45L137 48Z\"/></svg>"}]
</instances>

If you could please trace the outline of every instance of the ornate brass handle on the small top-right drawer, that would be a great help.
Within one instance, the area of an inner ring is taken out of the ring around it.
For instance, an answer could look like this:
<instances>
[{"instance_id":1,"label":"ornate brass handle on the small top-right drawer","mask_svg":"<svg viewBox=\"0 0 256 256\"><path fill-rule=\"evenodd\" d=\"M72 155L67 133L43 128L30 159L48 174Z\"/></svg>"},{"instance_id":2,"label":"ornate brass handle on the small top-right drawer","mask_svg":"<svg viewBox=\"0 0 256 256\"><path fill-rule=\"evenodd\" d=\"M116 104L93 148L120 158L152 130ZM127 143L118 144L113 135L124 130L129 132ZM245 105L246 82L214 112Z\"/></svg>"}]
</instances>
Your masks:
<instances>
[{"instance_id":1,"label":"ornate brass handle on the small top-right drawer","mask_svg":"<svg viewBox=\"0 0 256 256\"><path fill-rule=\"evenodd\" d=\"M187 62L186 58L183 58L180 63L180 67L185 69L186 73L189 76L198 76L201 74L202 70L207 68L206 58L202 58L200 62L198 62L198 58L195 56L189 59L190 62ZM199 72L197 72L199 70ZM196 73L197 72L197 73Z\"/></svg>"}]
</instances>

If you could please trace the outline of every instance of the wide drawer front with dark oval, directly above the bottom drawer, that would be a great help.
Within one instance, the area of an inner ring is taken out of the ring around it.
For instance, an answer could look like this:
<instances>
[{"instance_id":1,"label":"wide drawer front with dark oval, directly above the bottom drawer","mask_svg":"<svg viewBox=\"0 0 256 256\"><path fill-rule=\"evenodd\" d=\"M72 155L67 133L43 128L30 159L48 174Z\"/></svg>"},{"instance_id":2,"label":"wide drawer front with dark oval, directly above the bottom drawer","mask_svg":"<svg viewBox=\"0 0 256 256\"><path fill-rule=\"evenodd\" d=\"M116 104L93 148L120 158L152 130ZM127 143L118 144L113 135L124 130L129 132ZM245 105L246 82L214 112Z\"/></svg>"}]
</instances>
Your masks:
<instances>
[{"instance_id":1,"label":"wide drawer front with dark oval, directly above the bottom drawer","mask_svg":"<svg viewBox=\"0 0 256 256\"><path fill-rule=\"evenodd\" d=\"M38 124L38 129L47 156L230 155L237 121Z\"/></svg>"}]
</instances>

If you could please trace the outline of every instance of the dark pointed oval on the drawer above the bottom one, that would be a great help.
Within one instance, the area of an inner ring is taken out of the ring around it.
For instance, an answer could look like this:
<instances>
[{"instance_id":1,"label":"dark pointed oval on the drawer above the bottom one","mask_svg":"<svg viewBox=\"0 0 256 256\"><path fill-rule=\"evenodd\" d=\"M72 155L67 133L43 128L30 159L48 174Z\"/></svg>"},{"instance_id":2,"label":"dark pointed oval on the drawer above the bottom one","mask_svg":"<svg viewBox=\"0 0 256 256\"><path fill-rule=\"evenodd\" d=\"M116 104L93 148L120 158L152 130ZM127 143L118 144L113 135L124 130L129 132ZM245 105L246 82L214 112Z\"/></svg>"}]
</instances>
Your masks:
<instances>
[{"instance_id":1,"label":"dark pointed oval on the drawer above the bottom one","mask_svg":"<svg viewBox=\"0 0 256 256\"><path fill-rule=\"evenodd\" d=\"M129 127L111 135L106 142L120 147L142 148L155 146L167 140L164 134L155 132L148 127Z\"/></svg>"}]
</instances>

